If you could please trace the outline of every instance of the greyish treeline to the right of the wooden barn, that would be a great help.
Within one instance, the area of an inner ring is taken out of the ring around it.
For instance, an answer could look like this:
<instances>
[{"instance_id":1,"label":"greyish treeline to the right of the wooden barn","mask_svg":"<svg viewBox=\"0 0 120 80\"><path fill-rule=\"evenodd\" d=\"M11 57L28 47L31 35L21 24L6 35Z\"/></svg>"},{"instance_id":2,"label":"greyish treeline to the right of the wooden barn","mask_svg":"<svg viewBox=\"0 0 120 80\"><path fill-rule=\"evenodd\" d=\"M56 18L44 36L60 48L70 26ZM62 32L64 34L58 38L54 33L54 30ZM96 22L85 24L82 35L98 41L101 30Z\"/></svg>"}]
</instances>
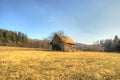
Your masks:
<instances>
[{"instance_id":1,"label":"greyish treeline to the right of the wooden barn","mask_svg":"<svg viewBox=\"0 0 120 80\"><path fill-rule=\"evenodd\" d=\"M100 40L93 45L77 44L77 50L120 52L120 39L116 35L114 39Z\"/></svg>"}]
</instances>

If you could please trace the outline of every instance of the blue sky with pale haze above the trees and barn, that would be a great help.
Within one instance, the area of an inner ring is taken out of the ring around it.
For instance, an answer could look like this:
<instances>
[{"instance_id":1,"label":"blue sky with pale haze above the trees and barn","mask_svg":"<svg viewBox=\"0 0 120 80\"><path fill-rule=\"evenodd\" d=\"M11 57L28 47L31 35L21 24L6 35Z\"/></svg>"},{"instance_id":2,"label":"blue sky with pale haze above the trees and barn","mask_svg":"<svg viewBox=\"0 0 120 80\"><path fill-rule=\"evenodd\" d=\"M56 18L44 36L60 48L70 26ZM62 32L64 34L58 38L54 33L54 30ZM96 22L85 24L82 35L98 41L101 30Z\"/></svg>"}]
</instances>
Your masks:
<instances>
[{"instance_id":1,"label":"blue sky with pale haze above the trees and barn","mask_svg":"<svg viewBox=\"0 0 120 80\"><path fill-rule=\"evenodd\" d=\"M120 0L0 0L0 28L37 39L62 30L91 44L120 36Z\"/></svg>"}]
</instances>

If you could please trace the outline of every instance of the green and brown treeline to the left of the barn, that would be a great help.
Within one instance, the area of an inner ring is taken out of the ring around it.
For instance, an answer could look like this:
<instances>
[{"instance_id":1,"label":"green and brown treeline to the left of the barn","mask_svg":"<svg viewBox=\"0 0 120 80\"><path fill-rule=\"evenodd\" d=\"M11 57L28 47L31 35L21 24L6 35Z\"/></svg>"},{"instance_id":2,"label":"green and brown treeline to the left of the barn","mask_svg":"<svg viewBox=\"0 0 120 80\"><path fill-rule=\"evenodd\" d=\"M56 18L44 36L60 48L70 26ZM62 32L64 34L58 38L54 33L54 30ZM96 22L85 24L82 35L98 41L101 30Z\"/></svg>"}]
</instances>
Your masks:
<instances>
[{"instance_id":1,"label":"green and brown treeline to the left of the barn","mask_svg":"<svg viewBox=\"0 0 120 80\"><path fill-rule=\"evenodd\" d=\"M30 39L22 32L0 29L0 46L18 46L50 49L48 40Z\"/></svg>"}]
</instances>

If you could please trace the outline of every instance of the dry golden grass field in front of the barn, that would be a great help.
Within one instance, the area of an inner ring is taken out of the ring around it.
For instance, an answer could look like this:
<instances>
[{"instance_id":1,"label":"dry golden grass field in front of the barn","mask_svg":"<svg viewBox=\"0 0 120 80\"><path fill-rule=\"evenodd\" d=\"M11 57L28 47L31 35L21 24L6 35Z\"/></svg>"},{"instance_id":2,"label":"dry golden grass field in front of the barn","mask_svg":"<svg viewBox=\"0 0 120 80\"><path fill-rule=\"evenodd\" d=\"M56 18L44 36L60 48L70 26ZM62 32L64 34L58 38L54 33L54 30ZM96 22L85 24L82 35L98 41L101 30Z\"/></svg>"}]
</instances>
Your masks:
<instances>
[{"instance_id":1,"label":"dry golden grass field in front of the barn","mask_svg":"<svg viewBox=\"0 0 120 80\"><path fill-rule=\"evenodd\" d=\"M0 80L120 80L120 54L0 47Z\"/></svg>"}]
</instances>

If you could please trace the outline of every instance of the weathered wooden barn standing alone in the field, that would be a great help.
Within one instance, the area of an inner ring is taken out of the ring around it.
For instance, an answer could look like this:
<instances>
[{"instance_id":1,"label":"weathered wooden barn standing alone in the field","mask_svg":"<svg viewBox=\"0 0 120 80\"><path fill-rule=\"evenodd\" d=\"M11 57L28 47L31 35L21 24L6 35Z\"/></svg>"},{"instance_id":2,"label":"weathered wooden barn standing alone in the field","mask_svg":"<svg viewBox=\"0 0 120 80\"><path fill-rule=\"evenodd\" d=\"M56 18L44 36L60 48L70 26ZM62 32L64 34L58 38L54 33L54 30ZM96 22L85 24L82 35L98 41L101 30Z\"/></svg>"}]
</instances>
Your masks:
<instances>
[{"instance_id":1,"label":"weathered wooden barn standing alone in the field","mask_svg":"<svg viewBox=\"0 0 120 80\"><path fill-rule=\"evenodd\" d=\"M52 50L54 51L75 51L76 46L74 41L68 36L62 36L55 34L53 40L50 43Z\"/></svg>"}]
</instances>

